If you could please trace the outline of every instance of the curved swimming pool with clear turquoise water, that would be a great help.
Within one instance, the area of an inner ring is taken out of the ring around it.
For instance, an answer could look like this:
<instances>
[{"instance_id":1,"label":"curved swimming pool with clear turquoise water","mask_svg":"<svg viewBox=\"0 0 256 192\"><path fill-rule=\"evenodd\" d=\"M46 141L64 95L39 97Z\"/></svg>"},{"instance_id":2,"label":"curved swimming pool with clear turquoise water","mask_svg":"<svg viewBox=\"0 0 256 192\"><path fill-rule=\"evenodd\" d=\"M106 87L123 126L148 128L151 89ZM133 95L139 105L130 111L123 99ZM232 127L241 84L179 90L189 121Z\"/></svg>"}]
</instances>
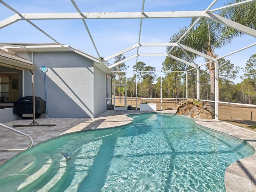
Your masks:
<instances>
[{"instance_id":1,"label":"curved swimming pool with clear turquoise water","mask_svg":"<svg viewBox=\"0 0 256 192\"><path fill-rule=\"evenodd\" d=\"M184 116L131 117L128 126L69 134L24 152L0 167L0 191L220 192L226 168L254 154L246 142Z\"/></svg>"}]
</instances>

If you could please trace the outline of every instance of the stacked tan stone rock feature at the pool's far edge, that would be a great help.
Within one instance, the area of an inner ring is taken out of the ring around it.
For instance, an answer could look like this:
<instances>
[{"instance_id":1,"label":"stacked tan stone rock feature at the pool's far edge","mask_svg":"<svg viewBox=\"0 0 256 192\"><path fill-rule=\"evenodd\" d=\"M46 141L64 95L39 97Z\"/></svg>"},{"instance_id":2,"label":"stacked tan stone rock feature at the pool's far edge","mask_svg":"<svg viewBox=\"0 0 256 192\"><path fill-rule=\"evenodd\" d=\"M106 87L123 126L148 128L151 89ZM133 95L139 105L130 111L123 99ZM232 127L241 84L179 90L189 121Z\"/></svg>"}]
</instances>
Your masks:
<instances>
[{"instance_id":1,"label":"stacked tan stone rock feature at the pool's far edge","mask_svg":"<svg viewBox=\"0 0 256 192\"><path fill-rule=\"evenodd\" d=\"M212 113L196 99L187 99L177 106L176 114L190 118L212 119Z\"/></svg>"}]
</instances>

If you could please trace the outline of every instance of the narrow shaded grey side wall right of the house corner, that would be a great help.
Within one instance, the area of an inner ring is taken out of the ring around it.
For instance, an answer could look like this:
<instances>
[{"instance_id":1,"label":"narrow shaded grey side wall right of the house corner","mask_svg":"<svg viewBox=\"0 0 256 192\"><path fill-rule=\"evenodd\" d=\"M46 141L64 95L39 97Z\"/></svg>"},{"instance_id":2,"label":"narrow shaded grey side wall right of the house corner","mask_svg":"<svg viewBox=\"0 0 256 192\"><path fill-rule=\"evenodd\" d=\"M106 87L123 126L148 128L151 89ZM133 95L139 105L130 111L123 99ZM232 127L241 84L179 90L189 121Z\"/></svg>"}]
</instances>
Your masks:
<instances>
[{"instance_id":1,"label":"narrow shaded grey side wall right of the house corner","mask_svg":"<svg viewBox=\"0 0 256 192\"><path fill-rule=\"evenodd\" d=\"M94 117L106 110L106 74L94 65Z\"/></svg>"}]
</instances>

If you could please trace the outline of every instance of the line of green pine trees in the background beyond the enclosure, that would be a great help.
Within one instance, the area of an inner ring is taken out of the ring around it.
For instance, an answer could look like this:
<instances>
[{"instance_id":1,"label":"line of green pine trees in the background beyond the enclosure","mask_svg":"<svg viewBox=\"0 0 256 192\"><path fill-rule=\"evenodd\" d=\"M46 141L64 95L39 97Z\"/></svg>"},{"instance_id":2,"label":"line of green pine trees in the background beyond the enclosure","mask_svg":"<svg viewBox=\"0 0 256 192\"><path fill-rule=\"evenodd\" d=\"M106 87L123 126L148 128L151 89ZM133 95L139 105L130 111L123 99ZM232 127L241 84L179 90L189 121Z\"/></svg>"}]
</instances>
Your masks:
<instances>
[{"instance_id":1,"label":"line of green pine trees in the background beyond the enclosure","mask_svg":"<svg viewBox=\"0 0 256 192\"><path fill-rule=\"evenodd\" d=\"M118 57L116 58L118 61ZM176 62L176 61L173 61ZM176 62L168 70L182 71L185 65ZM245 68L234 66L230 60L224 58L218 60L219 66L219 100L223 102L236 102L243 104L256 104L256 54L252 55ZM189 70L192 67L186 68ZM122 70L126 70L125 64ZM160 77L157 76L155 68L146 66L144 62L137 62L133 66L134 75L126 79L125 72L116 73L118 84L127 84L127 96L136 97L136 77L137 96L142 98L160 98ZM233 81L238 77L239 71L244 72L241 82L235 84ZM120 90L116 90L117 95ZM162 77L162 97L163 98L186 98L186 73L165 72ZM188 71L188 98L197 98L197 72ZM200 70L200 99L210 100L210 74L208 70Z\"/></svg>"}]
</instances>

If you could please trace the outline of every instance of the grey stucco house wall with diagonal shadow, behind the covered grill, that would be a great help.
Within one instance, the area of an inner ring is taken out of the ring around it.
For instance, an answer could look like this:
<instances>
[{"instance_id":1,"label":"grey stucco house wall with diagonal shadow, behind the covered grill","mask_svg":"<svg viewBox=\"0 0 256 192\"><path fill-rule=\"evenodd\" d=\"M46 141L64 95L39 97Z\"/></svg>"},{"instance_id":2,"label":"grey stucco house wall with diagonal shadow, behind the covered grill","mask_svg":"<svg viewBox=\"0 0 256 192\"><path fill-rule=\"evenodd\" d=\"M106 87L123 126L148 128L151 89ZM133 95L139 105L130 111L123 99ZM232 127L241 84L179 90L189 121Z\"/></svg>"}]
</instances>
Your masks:
<instances>
[{"instance_id":1,"label":"grey stucco house wall with diagonal shadow, behind the covered grill","mask_svg":"<svg viewBox=\"0 0 256 192\"><path fill-rule=\"evenodd\" d=\"M48 118L94 117L94 64L74 52L34 52L35 96L45 98L45 65ZM32 96L32 77L24 72L24 96ZM41 117L45 114L41 114Z\"/></svg>"}]
</instances>

